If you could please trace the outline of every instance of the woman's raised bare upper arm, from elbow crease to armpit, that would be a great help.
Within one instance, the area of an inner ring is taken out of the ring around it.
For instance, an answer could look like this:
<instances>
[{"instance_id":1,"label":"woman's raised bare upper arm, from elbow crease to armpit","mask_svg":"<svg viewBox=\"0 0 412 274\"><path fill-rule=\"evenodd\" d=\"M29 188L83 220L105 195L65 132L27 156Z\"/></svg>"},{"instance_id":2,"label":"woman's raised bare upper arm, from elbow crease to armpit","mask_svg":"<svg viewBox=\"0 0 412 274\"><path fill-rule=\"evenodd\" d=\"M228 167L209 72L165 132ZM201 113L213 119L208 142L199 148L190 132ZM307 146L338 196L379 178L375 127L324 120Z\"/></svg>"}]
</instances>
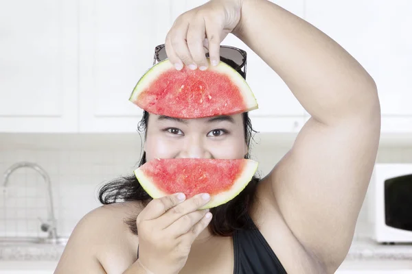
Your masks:
<instances>
[{"instance_id":1,"label":"woman's raised bare upper arm, from elbow crease to armpit","mask_svg":"<svg viewBox=\"0 0 412 274\"><path fill-rule=\"evenodd\" d=\"M271 173L273 195L288 227L328 266L341 264L352 243L379 133L378 114L336 125L311 118Z\"/></svg>"}]
</instances>

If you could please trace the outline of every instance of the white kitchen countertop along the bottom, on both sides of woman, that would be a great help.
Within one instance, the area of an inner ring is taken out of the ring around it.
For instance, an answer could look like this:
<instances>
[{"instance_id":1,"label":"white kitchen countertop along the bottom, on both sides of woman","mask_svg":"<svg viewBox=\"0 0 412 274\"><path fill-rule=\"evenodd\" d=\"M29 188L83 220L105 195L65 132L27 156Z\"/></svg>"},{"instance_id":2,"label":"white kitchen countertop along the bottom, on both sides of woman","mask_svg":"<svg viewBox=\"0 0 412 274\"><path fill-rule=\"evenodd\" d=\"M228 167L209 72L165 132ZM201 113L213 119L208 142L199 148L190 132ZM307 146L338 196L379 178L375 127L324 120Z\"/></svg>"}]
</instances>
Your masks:
<instances>
[{"instance_id":1,"label":"white kitchen countertop along the bottom, on both sides of woman","mask_svg":"<svg viewBox=\"0 0 412 274\"><path fill-rule=\"evenodd\" d=\"M0 274L52 274L64 249L64 245L0 244ZM412 245L380 245L357 236L336 273L412 274Z\"/></svg>"}]
</instances>

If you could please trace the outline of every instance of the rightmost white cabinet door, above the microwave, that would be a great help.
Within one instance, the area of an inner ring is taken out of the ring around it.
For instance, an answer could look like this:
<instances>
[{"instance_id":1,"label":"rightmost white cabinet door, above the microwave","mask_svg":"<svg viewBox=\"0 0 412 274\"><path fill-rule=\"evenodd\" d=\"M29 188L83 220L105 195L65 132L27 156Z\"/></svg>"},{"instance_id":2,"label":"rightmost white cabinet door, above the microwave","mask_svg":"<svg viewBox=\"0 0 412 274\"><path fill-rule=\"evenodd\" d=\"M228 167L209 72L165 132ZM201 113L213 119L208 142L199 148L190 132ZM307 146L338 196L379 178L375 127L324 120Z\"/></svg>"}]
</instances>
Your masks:
<instances>
[{"instance_id":1,"label":"rightmost white cabinet door, above the microwave","mask_svg":"<svg viewBox=\"0 0 412 274\"><path fill-rule=\"evenodd\" d=\"M382 132L412 132L412 2L307 0L305 18L374 77Z\"/></svg>"}]
</instances>

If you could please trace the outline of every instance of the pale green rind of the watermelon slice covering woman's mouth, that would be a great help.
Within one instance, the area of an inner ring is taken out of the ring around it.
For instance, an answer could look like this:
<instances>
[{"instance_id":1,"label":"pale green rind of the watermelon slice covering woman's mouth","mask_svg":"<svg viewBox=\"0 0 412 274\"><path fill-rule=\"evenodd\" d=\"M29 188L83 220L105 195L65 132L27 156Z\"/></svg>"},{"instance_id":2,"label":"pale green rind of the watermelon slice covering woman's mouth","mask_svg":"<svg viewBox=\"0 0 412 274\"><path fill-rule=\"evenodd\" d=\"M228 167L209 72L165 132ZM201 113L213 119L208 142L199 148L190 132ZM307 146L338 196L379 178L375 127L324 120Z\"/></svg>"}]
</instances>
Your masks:
<instances>
[{"instance_id":1,"label":"pale green rind of the watermelon slice covering woman's mouth","mask_svg":"<svg viewBox=\"0 0 412 274\"><path fill-rule=\"evenodd\" d=\"M227 191L220 192L217 195L211 195L211 200L205 206L199 209L206 209L206 208L215 208L216 206L220 206L228 201L231 201L234 197L238 196L244 188L251 182L253 175L255 175L256 171L258 170L258 162L254 160L244 159L246 161L245 165L242 168L242 173L238 176L238 178L233 182L231 188ZM159 199L166 195L170 195L166 192L159 190L152 184L150 177L147 177L144 171L140 168L135 169L134 171L137 180L141 187L152 197L153 199Z\"/></svg>"}]
</instances>

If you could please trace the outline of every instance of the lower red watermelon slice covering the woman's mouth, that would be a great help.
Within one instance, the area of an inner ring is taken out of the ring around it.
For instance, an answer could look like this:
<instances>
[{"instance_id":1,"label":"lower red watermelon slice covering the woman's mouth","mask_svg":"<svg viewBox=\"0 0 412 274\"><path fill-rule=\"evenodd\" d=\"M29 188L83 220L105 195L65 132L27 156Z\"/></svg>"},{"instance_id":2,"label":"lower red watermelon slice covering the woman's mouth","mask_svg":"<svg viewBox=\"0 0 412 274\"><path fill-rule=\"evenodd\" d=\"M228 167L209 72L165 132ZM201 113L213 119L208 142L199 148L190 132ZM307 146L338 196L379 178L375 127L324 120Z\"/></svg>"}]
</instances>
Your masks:
<instances>
[{"instance_id":1,"label":"lower red watermelon slice covering the woman's mouth","mask_svg":"<svg viewBox=\"0 0 412 274\"><path fill-rule=\"evenodd\" d=\"M203 208L214 208L236 197L251 181L258 162L249 159L155 159L135 169L140 185L153 199L183 192L186 199L207 192Z\"/></svg>"}]
</instances>

